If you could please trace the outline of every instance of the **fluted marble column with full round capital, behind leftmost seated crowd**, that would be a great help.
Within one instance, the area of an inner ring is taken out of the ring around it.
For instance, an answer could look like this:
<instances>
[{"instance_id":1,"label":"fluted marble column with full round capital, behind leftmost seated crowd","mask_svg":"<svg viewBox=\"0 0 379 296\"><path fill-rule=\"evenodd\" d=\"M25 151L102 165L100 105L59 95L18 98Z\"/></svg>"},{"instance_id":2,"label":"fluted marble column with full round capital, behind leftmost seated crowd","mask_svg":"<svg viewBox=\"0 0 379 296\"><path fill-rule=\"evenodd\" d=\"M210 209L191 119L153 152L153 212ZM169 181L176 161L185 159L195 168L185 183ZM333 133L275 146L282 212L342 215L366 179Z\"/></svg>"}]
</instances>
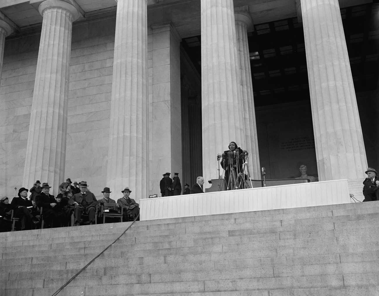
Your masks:
<instances>
[{"instance_id":1,"label":"fluted marble column with full round capital, behind leftmost seated crowd","mask_svg":"<svg viewBox=\"0 0 379 296\"><path fill-rule=\"evenodd\" d=\"M77 9L61 0L39 5L43 16L23 183L36 179L58 189L64 180L67 133L67 95L72 22Z\"/></svg>"}]
</instances>

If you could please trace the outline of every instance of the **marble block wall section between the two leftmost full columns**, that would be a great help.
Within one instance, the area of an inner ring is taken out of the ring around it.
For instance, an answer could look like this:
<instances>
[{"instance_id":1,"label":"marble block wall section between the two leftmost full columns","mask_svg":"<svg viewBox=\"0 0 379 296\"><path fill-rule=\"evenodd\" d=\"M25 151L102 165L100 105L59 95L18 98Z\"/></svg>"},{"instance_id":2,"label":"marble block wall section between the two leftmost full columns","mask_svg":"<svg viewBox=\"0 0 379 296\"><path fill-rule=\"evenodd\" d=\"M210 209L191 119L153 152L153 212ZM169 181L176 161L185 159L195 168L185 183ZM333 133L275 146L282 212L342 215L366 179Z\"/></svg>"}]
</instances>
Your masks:
<instances>
[{"instance_id":1,"label":"marble block wall section between the two leftmost full columns","mask_svg":"<svg viewBox=\"0 0 379 296\"><path fill-rule=\"evenodd\" d=\"M72 30L65 178L87 181L96 196L107 186L115 25L110 16Z\"/></svg>"}]
</instances>

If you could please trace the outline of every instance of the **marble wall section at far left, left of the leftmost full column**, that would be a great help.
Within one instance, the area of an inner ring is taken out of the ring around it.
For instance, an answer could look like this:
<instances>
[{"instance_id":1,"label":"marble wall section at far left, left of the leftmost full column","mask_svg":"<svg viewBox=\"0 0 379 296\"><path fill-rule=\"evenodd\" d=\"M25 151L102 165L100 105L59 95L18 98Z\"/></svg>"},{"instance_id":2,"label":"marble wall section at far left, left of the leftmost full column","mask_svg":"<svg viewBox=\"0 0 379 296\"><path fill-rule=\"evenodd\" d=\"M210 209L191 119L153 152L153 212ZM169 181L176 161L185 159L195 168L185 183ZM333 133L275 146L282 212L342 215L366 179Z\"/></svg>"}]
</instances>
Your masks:
<instances>
[{"instance_id":1,"label":"marble wall section at far left, left of the leftmost full column","mask_svg":"<svg viewBox=\"0 0 379 296\"><path fill-rule=\"evenodd\" d=\"M20 187L25 164L30 109L40 34L5 42L0 83L0 187L2 196L14 196Z\"/></svg>"}]
</instances>

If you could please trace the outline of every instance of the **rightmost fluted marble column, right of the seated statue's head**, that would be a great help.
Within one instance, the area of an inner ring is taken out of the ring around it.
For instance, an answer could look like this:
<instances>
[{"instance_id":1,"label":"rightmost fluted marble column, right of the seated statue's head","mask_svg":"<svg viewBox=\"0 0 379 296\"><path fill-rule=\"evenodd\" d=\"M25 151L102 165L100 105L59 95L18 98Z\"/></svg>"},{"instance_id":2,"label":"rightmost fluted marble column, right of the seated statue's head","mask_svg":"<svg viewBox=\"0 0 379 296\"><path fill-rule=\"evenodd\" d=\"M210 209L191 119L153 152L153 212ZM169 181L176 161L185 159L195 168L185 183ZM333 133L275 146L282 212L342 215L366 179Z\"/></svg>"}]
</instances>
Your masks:
<instances>
[{"instance_id":1,"label":"rightmost fluted marble column, right of the seated statue's head","mask_svg":"<svg viewBox=\"0 0 379 296\"><path fill-rule=\"evenodd\" d=\"M367 167L338 0L302 0L320 181L357 179Z\"/></svg>"}]
</instances>

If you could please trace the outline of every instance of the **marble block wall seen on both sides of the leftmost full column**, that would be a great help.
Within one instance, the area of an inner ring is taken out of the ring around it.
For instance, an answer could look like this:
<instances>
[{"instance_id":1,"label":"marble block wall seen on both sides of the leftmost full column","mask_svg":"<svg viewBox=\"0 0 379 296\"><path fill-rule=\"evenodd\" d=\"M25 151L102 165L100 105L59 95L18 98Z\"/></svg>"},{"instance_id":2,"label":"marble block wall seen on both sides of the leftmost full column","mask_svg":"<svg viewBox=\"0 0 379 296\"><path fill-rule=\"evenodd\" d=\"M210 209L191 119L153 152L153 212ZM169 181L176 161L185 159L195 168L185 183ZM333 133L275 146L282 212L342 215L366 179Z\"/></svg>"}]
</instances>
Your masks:
<instances>
[{"instance_id":1,"label":"marble block wall seen on both sides of the leftmost full column","mask_svg":"<svg viewBox=\"0 0 379 296\"><path fill-rule=\"evenodd\" d=\"M101 196L106 185L110 98L116 18L73 25L65 177L87 181ZM0 88L0 186L14 195L22 182L40 34L5 43ZM46 182L48 180L41 180ZM62 182L64 180L61 180ZM52 188L53 195L58 188ZM115 189L111 189L114 191ZM117 194L121 197L121 192Z\"/></svg>"}]
</instances>

